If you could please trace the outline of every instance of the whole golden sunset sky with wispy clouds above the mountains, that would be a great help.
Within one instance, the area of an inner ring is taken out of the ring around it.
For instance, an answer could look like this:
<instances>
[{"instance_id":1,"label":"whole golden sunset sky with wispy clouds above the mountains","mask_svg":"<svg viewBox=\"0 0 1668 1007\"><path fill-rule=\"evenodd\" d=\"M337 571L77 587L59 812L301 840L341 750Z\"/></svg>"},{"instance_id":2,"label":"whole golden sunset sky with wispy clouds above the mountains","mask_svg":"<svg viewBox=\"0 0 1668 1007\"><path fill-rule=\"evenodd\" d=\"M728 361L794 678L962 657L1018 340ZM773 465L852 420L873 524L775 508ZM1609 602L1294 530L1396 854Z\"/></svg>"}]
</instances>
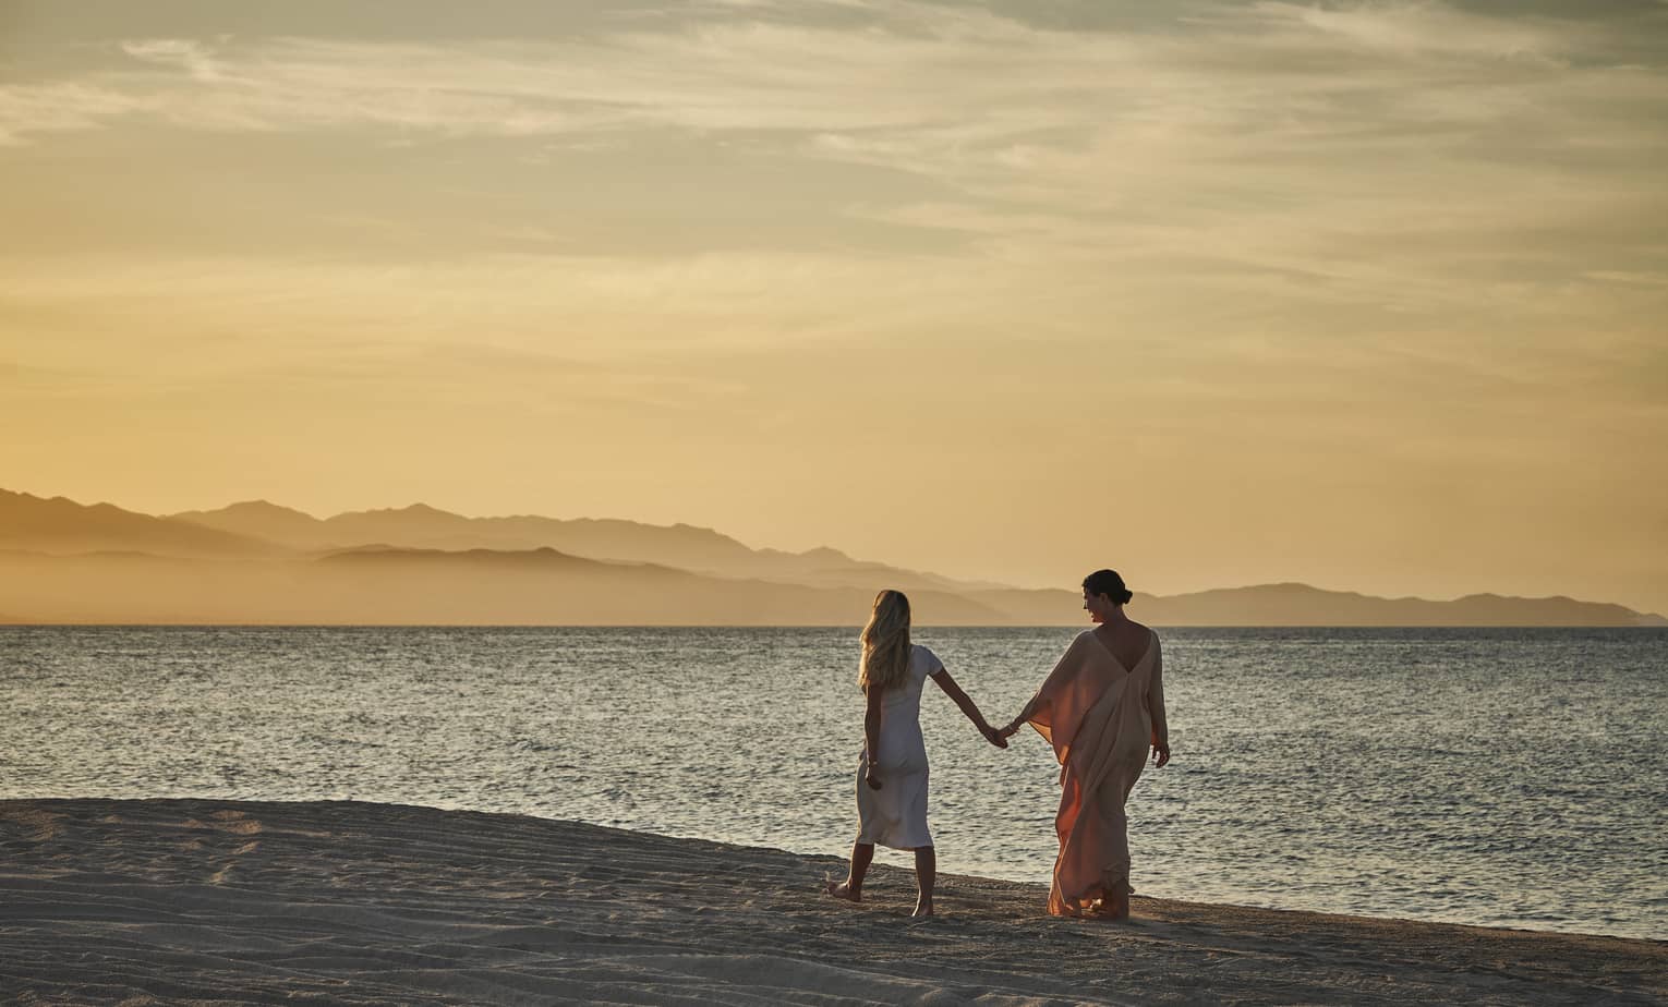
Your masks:
<instances>
[{"instance_id":1,"label":"whole golden sunset sky with wispy clouds above the mountains","mask_svg":"<svg viewBox=\"0 0 1668 1007\"><path fill-rule=\"evenodd\" d=\"M1668 3L0 0L0 487L1668 612Z\"/></svg>"}]
</instances>

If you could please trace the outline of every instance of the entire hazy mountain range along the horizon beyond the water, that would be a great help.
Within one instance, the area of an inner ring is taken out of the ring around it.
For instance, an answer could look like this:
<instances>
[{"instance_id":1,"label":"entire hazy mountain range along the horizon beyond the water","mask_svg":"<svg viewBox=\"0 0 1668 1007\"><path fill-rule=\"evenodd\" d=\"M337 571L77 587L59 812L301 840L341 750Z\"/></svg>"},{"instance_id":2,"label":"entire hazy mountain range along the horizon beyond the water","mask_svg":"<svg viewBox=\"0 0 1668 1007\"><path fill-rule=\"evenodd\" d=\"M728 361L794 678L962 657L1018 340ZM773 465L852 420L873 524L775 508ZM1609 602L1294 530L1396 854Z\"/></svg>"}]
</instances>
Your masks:
<instances>
[{"instance_id":1,"label":"entire hazy mountain range along the horizon beyond the water","mask_svg":"<svg viewBox=\"0 0 1668 1007\"><path fill-rule=\"evenodd\" d=\"M422 504L329 519L254 500L147 515L0 490L0 622L852 625L881 587L937 625L1083 624L1027 590L781 552L692 525L464 517ZM1303 584L1136 595L1156 625L1668 625L1575 599L1378 599Z\"/></svg>"}]
</instances>

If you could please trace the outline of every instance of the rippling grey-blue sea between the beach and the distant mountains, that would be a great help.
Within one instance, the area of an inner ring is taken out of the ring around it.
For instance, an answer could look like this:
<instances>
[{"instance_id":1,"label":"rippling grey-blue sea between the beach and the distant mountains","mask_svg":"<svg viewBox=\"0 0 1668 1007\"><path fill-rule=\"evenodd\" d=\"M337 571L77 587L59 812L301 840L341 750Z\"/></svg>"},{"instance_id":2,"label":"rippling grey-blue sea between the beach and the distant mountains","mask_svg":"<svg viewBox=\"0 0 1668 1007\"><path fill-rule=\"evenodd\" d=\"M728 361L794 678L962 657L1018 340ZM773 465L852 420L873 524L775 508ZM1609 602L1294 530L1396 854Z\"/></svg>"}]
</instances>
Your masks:
<instances>
[{"instance_id":1,"label":"rippling grey-blue sea between the beach and the distant mountains","mask_svg":"<svg viewBox=\"0 0 1668 1007\"><path fill-rule=\"evenodd\" d=\"M1001 724L1074 632L916 642ZM1668 632L1163 637L1139 894L1668 939ZM856 629L0 627L0 797L404 802L844 855L854 670ZM922 730L939 869L1046 882L1042 740L989 747L931 684Z\"/></svg>"}]
</instances>

